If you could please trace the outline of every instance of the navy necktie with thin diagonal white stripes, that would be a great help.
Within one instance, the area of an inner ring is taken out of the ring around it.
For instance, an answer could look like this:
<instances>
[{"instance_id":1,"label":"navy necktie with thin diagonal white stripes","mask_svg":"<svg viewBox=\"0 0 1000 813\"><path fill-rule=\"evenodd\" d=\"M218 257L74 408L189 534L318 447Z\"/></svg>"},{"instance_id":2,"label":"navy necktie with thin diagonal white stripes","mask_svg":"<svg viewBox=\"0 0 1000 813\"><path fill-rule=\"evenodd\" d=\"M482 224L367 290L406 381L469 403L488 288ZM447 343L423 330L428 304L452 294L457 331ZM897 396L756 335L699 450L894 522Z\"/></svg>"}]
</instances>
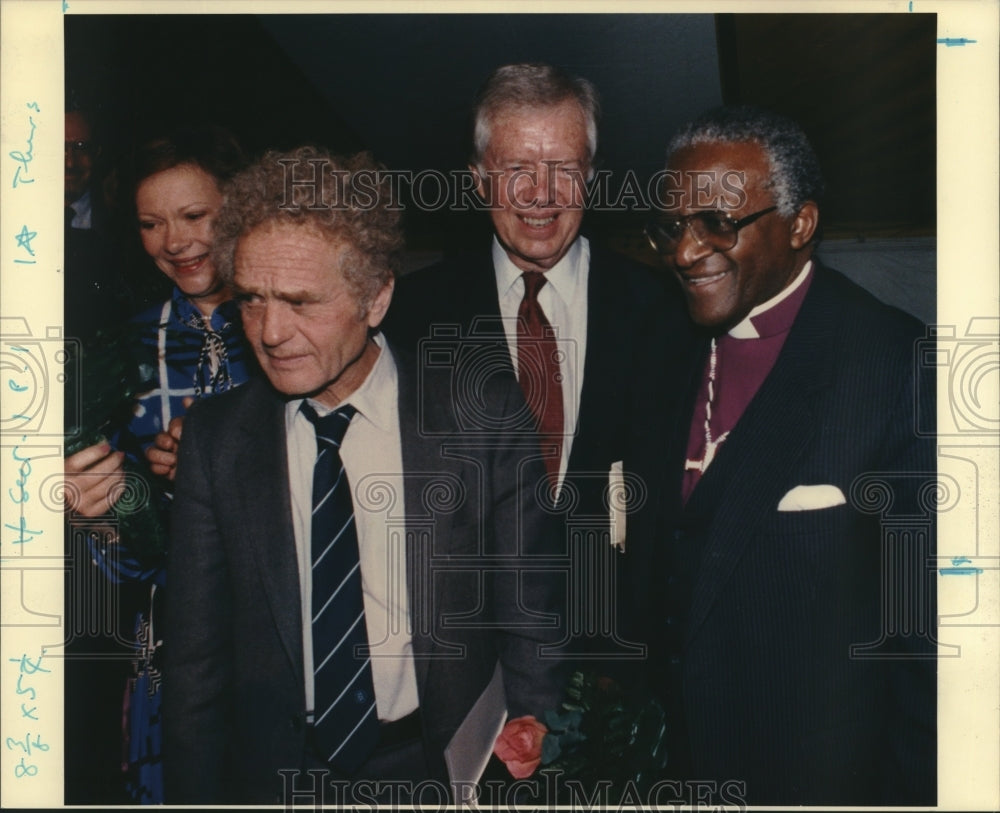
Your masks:
<instances>
[{"instance_id":1,"label":"navy necktie with thin diagonal white stripes","mask_svg":"<svg viewBox=\"0 0 1000 813\"><path fill-rule=\"evenodd\" d=\"M379 737L354 503L340 459L340 444L356 411L346 405L320 418L302 402L302 414L316 428L311 543L314 727L323 756L346 774L370 756Z\"/></svg>"}]
</instances>

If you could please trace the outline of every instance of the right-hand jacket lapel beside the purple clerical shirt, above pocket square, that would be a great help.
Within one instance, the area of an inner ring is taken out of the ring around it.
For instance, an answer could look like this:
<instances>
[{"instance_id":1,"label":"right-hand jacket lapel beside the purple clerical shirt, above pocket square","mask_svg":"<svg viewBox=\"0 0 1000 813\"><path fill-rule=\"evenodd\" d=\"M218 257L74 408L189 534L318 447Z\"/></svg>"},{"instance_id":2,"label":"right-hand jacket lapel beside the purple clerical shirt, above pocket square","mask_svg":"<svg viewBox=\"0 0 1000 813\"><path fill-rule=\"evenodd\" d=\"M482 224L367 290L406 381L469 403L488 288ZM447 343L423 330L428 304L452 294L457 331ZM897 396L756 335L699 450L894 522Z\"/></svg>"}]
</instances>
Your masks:
<instances>
[{"instance_id":1,"label":"right-hand jacket lapel beside the purple clerical shirt, above pocket square","mask_svg":"<svg viewBox=\"0 0 1000 813\"><path fill-rule=\"evenodd\" d=\"M826 290L817 269L774 369L689 500L688 510L712 516L692 595L689 640L756 538L757 525L777 510L786 474L816 432L817 400L831 379L832 338L842 318ZM678 428L685 442L688 428Z\"/></svg>"}]
</instances>

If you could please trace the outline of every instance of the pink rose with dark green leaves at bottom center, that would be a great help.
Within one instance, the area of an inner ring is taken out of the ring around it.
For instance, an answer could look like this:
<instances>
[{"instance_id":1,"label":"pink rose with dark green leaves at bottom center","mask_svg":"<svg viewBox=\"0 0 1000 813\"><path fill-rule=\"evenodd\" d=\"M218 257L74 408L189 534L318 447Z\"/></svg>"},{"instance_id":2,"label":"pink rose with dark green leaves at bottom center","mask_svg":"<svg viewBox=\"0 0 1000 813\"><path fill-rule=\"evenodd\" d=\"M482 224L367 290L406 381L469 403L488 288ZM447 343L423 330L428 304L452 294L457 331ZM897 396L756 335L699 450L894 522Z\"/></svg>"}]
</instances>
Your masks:
<instances>
[{"instance_id":1,"label":"pink rose with dark green leaves at bottom center","mask_svg":"<svg viewBox=\"0 0 1000 813\"><path fill-rule=\"evenodd\" d=\"M560 707L547 711L544 723L530 716L509 721L494 753L516 779L541 767L584 787L610 782L608 798L620 799L626 791L642 794L660 777L666 737L666 715L652 694L626 693L609 678L575 672Z\"/></svg>"}]
</instances>

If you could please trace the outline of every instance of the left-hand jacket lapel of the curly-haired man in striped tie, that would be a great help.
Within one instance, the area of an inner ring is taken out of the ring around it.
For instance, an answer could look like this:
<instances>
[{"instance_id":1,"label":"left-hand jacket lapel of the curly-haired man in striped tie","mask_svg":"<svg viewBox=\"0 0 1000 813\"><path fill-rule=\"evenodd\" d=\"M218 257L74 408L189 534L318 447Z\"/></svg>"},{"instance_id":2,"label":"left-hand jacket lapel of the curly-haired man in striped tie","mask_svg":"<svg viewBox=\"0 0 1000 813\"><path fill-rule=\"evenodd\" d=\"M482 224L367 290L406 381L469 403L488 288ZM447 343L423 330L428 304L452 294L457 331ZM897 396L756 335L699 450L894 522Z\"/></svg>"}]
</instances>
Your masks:
<instances>
[{"instance_id":1,"label":"left-hand jacket lapel of the curly-haired man in striped tie","mask_svg":"<svg viewBox=\"0 0 1000 813\"><path fill-rule=\"evenodd\" d=\"M244 443L234 476L245 517L245 539L264 586L278 633L296 674L302 674L302 604L292 526L284 402L260 380L238 416Z\"/></svg>"}]
</instances>

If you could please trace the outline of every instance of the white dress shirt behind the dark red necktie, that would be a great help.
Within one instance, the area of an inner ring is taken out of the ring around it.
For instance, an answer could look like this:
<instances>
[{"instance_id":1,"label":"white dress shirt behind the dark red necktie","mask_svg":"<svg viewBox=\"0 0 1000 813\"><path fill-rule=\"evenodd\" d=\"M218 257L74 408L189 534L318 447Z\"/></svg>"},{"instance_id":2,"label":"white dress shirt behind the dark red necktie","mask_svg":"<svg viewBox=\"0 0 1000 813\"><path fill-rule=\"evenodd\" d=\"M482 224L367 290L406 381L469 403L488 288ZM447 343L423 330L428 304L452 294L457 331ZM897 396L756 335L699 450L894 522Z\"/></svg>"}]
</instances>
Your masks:
<instances>
[{"instance_id":1,"label":"white dress shirt behind the dark red necktie","mask_svg":"<svg viewBox=\"0 0 1000 813\"><path fill-rule=\"evenodd\" d=\"M524 272L511 262L500 242L493 238L493 269L496 272L500 316L507 334L507 349L517 372L517 310L524 299ZM563 388L563 444L559 461L559 482L566 465L580 414L583 364L587 357L587 280L590 276L590 243L577 237L563 257L545 272L545 285L538 292L538 304L556 332L563 350L559 364Z\"/></svg>"}]
</instances>

